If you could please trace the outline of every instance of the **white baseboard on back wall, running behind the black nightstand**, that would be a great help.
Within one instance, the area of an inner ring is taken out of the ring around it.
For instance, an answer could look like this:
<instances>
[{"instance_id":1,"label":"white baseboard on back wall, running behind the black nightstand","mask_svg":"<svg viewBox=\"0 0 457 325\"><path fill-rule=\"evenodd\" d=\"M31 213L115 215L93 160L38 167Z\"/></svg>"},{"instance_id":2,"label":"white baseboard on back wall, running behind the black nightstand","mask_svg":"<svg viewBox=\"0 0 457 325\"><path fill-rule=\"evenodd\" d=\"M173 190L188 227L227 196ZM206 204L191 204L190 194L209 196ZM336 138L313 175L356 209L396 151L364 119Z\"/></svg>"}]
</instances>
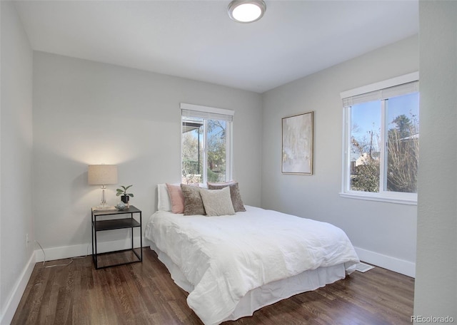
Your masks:
<instances>
[{"instance_id":1,"label":"white baseboard on back wall, running behind the black nightstand","mask_svg":"<svg viewBox=\"0 0 457 325\"><path fill-rule=\"evenodd\" d=\"M44 255L41 248L37 246L35 250L36 261L35 262L43 262ZM139 237L134 237L134 247L140 246L140 239ZM144 238L143 238L143 246L144 246ZM104 252L111 252L115 250L121 249L129 249L131 248L131 239L121 239L121 240L114 240L110 242L97 242L97 253L104 253ZM46 255L46 261L53 261L54 259L68 259L71 257L80 257L92 254L92 243L89 242L87 244L78 244L72 246L63 246L63 247L51 247L46 248L43 247L44 254Z\"/></svg>"}]
</instances>

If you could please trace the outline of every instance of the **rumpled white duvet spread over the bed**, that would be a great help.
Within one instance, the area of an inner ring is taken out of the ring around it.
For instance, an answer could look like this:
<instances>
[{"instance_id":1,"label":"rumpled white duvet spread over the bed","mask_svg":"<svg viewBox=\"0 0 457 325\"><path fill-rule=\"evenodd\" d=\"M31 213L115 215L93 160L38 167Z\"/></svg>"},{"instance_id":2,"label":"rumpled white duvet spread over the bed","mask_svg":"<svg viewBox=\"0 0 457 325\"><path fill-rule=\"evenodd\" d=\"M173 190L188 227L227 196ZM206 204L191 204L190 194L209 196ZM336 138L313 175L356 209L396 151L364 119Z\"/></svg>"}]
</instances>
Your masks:
<instances>
[{"instance_id":1,"label":"rumpled white duvet spread over the bed","mask_svg":"<svg viewBox=\"0 0 457 325\"><path fill-rule=\"evenodd\" d=\"M146 225L146 238L193 285L187 303L204 324L219 324L242 296L263 284L358 262L338 227L250 206L220 217L159 211Z\"/></svg>"}]
</instances>

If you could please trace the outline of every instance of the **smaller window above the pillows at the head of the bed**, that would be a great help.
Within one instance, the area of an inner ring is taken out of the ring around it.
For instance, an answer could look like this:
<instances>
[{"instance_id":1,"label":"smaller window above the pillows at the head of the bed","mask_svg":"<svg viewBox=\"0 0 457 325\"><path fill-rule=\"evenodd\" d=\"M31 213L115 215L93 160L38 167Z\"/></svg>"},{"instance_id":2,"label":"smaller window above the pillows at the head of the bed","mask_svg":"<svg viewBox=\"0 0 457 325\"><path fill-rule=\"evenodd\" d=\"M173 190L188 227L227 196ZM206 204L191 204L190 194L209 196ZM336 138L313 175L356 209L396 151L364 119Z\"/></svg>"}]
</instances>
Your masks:
<instances>
[{"instance_id":1,"label":"smaller window above the pillows at the head of the bed","mask_svg":"<svg viewBox=\"0 0 457 325\"><path fill-rule=\"evenodd\" d=\"M233 113L181 103L181 182L231 180Z\"/></svg>"}]
</instances>

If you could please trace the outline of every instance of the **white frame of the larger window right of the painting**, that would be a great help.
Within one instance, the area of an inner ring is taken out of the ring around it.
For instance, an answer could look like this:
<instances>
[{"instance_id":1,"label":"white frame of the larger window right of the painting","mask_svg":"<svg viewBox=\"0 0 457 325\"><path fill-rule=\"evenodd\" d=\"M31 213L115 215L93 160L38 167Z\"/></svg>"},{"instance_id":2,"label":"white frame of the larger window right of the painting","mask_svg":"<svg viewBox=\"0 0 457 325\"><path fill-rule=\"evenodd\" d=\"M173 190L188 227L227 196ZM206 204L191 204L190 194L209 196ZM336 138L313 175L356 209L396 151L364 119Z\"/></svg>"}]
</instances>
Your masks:
<instances>
[{"instance_id":1,"label":"white frame of the larger window right of the painting","mask_svg":"<svg viewBox=\"0 0 457 325\"><path fill-rule=\"evenodd\" d=\"M359 96L366 93L383 91L386 88L400 86L406 83L414 83L419 81L418 71L408 73L403 76L391 78L386 81L378 83L372 83L368 86L352 89L350 91L343 91L341 99L345 100L353 96ZM341 167L341 197L348 197L359 200L373 200L380 202L391 202L405 205L417 205L417 193L406 193L406 192L392 192L385 190L386 179L386 100L389 97L381 98L381 153L380 153L380 180L379 180L379 192L363 192L351 190L351 106L343 104L343 136L342 136L342 167Z\"/></svg>"}]
</instances>

